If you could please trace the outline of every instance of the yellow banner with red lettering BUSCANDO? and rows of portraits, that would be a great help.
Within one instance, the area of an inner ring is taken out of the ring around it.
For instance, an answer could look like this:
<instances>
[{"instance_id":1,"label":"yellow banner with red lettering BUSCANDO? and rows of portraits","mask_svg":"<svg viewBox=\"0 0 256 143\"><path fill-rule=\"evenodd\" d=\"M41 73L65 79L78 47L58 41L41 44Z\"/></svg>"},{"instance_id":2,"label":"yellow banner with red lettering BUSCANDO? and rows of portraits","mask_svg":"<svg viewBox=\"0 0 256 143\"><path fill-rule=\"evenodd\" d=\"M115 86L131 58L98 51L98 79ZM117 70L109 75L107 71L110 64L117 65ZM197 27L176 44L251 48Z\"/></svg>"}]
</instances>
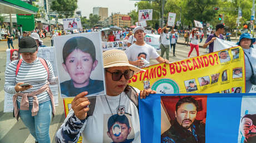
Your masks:
<instances>
[{"instance_id":1,"label":"yellow banner with red lettering BUSCANDO? and rows of portraits","mask_svg":"<svg viewBox=\"0 0 256 143\"><path fill-rule=\"evenodd\" d=\"M199 57L144 68L129 81L159 94L245 93L244 52L233 47Z\"/></svg>"}]
</instances>

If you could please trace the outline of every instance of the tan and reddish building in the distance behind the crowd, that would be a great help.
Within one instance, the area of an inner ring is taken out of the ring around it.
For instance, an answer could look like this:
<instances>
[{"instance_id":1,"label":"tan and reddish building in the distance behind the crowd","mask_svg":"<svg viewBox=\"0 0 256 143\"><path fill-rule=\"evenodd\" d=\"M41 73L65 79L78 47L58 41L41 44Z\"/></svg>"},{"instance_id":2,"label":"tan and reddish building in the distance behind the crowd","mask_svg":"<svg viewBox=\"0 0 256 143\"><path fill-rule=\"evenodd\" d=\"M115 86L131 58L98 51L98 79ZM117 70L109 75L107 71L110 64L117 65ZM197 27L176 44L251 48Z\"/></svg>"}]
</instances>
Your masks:
<instances>
[{"instance_id":1,"label":"tan and reddish building in the distance behind the crowd","mask_svg":"<svg viewBox=\"0 0 256 143\"><path fill-rule=\"evenodd\" d=\"M112 16L112 24L118 27L131 27L131 17L125 14L114 14Z\"/></svg>"}]
</instances>

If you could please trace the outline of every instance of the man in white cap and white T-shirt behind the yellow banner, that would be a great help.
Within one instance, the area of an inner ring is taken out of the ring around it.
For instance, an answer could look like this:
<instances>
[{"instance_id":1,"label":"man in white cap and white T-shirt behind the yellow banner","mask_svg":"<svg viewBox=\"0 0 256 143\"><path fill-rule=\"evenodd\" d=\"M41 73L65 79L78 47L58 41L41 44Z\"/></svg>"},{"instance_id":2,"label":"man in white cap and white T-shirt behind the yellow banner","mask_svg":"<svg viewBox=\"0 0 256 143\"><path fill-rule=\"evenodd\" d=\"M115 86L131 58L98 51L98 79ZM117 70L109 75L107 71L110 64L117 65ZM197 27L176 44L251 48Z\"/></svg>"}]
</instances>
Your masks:
<instances>
[{"instance_id":1,"label":"man in white cap and white T-shirt behind the yellow banner","mask_svg":"<svg viewBox=\"0 0 256 143\"><path fill-rule=\"evenodd\" d=\"M144 62L142 59L137 59L139 53L146 53L146 60L149 62L150 59L156 59L159 63L169 64L169 60L160 57L156 52L155 48L144 41L145 33L143 27L136 27L133 30L134 37L136 38L135 44L132 44L127 50L126 55L129 63L137 67L142 67Z\"/></svg>"}]
</instances>

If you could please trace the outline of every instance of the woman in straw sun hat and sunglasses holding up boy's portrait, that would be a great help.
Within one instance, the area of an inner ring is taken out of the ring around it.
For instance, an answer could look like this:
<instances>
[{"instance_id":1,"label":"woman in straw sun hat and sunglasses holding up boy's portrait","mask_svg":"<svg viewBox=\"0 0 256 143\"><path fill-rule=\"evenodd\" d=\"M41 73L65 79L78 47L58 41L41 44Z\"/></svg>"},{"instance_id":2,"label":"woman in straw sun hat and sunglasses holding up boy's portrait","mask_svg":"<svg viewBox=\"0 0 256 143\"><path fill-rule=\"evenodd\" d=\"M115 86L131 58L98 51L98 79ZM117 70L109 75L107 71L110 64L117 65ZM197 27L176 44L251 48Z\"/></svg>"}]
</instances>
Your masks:
<instances>
[{"instance_id":1,"label":"woman in straw sun hat and sunglasses holding up boy's portrait","mask_svg":"<svg viewBox=\"0 0 256 143\"><path fill-rule=\"evenodd\" d=\"M145 70L131 65L122 50L113 49L104 52L103 65L106 95L90 99L86 98L87 91L76 95L71 103L72 109L55 134L56 142L77 142L80 133L83 142L114 142L114 136L110 138L107 134L107 121L111 116L120 118L126 116L131 123L129 135L123 130L117 130L115 139L119 142L130 139L134 139L132 142L140 142L139 114L137 104L131 97L137 99L139 98L137 93L140 93L142 99L149 94L155 94L156 91L151 89L139 91L128 85L129 79L135 73ZM118 120L115 119L116 124L113 126L120 127Z\"/></svg>"}]
</instances>

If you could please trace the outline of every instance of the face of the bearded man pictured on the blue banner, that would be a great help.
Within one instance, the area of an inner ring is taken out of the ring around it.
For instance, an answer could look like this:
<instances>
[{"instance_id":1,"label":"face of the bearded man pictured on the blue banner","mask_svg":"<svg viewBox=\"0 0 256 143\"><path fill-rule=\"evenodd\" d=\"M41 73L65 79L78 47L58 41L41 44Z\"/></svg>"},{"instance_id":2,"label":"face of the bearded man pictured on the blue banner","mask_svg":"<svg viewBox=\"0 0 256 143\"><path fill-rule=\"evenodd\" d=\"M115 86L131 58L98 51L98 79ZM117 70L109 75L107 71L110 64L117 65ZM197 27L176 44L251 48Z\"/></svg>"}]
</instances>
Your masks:
<instances>
[{"instance_id":1,"label":"face of the bearded man pictured on the blue banner","mask_svg":"<svg viewBox=\"0 0 256 143\"><path fill-rule=\"evenodd\" d=\"M196 106L193 103L183 103L175 111L178 123L185 129L189 129L196 118Z\"/></svg>"}]
</instances>

